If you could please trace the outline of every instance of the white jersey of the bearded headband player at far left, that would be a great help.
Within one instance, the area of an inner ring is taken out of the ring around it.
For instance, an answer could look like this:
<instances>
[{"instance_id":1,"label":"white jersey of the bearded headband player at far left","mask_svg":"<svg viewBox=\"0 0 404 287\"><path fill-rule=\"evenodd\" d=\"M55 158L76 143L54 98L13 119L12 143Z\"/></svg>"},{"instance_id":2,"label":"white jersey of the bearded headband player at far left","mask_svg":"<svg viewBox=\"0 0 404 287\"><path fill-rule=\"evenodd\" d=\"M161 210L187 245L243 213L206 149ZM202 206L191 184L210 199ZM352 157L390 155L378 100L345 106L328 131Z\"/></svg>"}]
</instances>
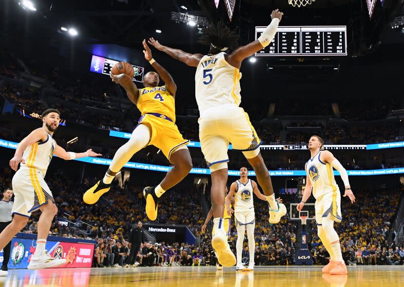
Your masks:
<instances>
[{"instance_id":1,"label":"white jersey of the bearded headband player at far left","mask_svg":"<svg viewBox=\"0 0 404 287\"><path fill-rule=\"evenodd\" d=\"M47 133L47 136L45 141L35 142L24 151L25 164L21 163L21 167L40 170L44 177L56 148L56 141L49 133Z\"/></svg>"}]
</instances>

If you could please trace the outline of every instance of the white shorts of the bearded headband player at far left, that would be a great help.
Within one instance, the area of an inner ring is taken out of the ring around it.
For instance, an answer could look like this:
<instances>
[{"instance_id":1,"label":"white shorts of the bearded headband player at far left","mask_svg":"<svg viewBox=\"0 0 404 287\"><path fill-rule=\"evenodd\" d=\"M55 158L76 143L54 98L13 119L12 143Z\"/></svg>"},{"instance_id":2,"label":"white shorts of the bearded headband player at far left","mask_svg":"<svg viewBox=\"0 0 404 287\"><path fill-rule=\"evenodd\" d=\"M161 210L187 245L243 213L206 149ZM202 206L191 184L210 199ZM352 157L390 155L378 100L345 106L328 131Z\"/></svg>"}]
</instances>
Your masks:
<instances>
[{"instance_id":1,"label":"white shorts of the bearded headband player at far left","mask_svg":"<svg viewBox=\"0 0 404 287\"><path fill-rule=\"evenodd\" d=\"M30 217L43 204L51 200L52 192L43 178L42 172L28 167L20 168L12 179L14 192L13 214Z\"/></svg>"}]
</instances>

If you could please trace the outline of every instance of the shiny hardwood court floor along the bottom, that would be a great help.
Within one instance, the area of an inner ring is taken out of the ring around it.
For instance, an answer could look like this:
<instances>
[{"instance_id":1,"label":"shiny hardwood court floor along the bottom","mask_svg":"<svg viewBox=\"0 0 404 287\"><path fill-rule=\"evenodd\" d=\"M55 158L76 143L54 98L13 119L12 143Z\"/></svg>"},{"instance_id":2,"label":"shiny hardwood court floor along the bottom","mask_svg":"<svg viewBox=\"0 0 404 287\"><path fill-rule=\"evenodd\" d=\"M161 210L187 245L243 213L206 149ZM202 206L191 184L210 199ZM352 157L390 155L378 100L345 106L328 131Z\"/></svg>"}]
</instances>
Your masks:
<instances>
[{"instance_id":1,"label":"shiny hardwood court floor along the bottom","mask_svg":"<svg viewBox=\"0 0 404 287\"><path fill-rule=\"evenodd\" d=\"M404 284L404 265L349 267L348 275L322 274L321 267L255 267L253 272L217 271L215 267L78 268L10 270L0 286L141 287L306 287Z\"/></svg>"}]
</instances>

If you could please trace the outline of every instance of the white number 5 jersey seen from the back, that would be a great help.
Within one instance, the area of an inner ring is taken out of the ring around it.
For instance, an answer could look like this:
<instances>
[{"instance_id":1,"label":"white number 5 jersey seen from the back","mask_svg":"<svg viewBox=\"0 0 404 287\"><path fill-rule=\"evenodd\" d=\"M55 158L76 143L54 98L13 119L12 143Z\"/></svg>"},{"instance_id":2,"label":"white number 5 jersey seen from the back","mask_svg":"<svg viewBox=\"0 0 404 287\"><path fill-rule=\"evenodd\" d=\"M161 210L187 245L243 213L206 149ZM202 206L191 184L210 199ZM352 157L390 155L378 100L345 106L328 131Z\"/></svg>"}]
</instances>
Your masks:
<instances>
[{"instance_id":1,"label":"white number 5 jersey seen from the back","mask_svg":"<svg viewBox=\"0 0 404 287\"><path fill-rule=\"evenodd\" d=\"M199 111L241 103L241 72L225 60L225 52L203 56L195 73L195 96Z\"/></svg>"}]
</instances>

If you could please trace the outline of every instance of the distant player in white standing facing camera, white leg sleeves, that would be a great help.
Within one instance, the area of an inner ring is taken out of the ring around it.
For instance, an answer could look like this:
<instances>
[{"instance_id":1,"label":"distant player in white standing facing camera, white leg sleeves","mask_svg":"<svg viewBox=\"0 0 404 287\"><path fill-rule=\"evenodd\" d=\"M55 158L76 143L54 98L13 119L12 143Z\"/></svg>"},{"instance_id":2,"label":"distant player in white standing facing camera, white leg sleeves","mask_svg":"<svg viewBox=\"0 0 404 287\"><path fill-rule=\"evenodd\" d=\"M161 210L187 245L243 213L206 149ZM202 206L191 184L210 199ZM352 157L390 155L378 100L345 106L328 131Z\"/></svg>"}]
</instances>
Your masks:
<instances>
[{"instance_id":1,"label":"distant player in white standing facing camera, white leg sleeves","mask_svg":"<svg viewBox=\"0 0 404 287\"><path fill-rule=\"evenodd\" d=\"M234 219L237 229L237 243L236 243L236 255L237 266L236 270L244 270L243 263L241 262L243 252L244 234L247 231L248 250L250 253L250 262L246 270L254 270L254 229L255 229L255 212L254 212L254 200L252 194L255 194L262 200L267 200L263 195L254 180L248 178L248 169L242 167L240 169L240 179L234 181L230 186L229 194L226 197L227 213L231 214L230 202L233 196L234 200ZM278 198L279 202L282 202Z\"/></svg>"}]
</instances>

